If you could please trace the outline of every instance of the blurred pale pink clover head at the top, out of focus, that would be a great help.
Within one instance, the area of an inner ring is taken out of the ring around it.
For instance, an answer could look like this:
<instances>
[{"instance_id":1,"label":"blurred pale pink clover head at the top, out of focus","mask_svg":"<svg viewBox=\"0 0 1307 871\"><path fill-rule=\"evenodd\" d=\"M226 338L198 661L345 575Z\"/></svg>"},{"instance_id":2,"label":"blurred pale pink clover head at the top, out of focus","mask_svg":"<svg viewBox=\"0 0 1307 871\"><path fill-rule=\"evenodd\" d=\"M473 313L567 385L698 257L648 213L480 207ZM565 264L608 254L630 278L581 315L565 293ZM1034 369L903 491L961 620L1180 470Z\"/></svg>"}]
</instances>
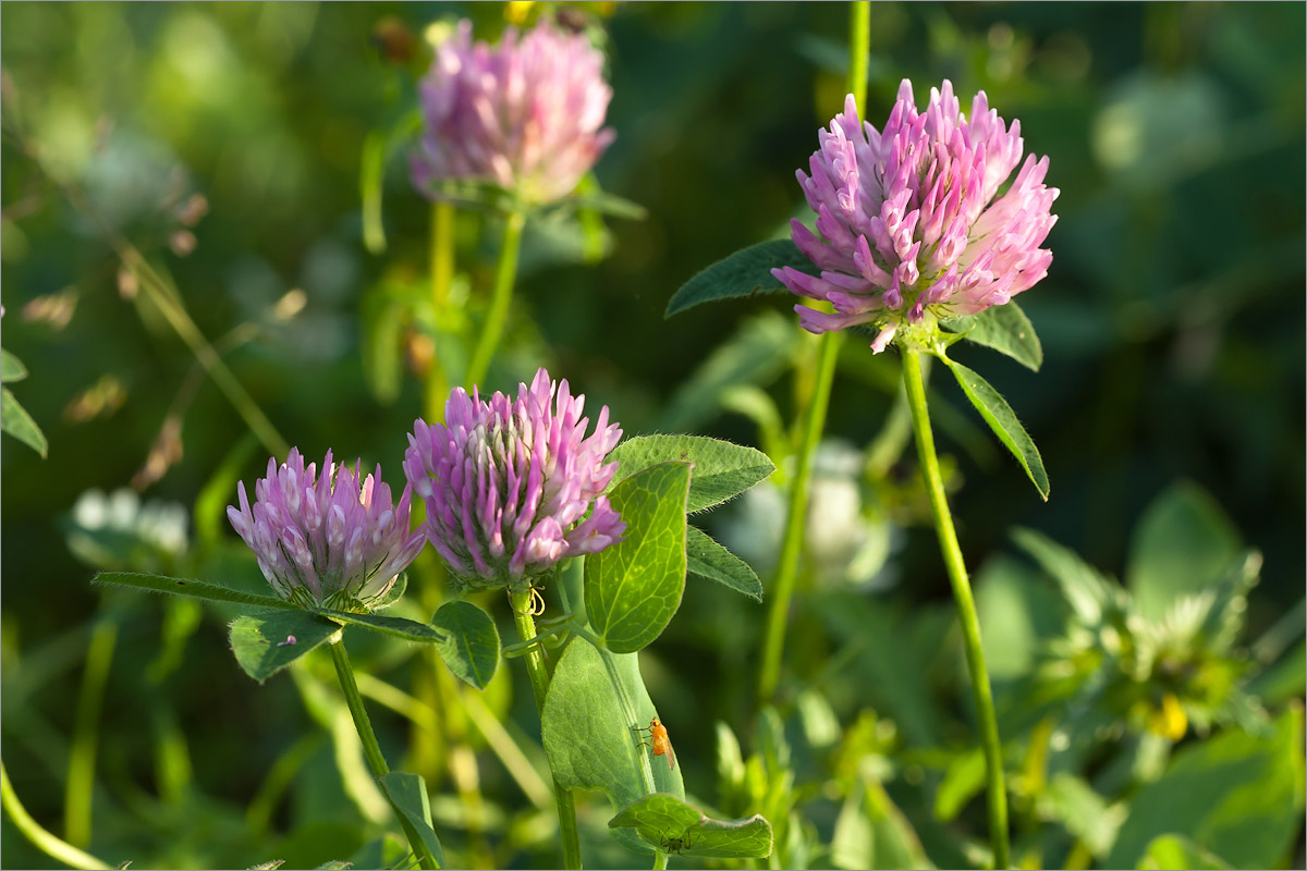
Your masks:
<instances>
[{"instance_id":1,"label":"blurred pale pink clover head at the top, out of focus","mask_svg":"<svg viewBox=\"0 0 1307 871\"><path fill-rule=\"evenodd\" d=\"M461 21L435 50L421 82L425 129L410 161L413 184L439 197L447 179L489 182L527 205L576 188L613 141L600 129L613 89L604 55L583 34L541 21L498 46L472 42Z\"/></svg>"}]
</instances>

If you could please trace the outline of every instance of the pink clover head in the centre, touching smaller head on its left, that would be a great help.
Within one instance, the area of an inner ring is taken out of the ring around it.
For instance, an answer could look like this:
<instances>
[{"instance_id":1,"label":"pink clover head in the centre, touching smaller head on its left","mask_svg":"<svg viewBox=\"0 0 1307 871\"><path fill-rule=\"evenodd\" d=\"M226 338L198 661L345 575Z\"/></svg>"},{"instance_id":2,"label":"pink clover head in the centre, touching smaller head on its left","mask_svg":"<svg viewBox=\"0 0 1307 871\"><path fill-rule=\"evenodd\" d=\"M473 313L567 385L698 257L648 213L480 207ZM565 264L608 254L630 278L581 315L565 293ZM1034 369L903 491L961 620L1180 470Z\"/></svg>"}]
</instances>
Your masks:
<instances>
[{"instance_id":1,"label":"pink clover head in the centre, touching smaller head on its left","mask_svg":"<svg viewBox=\"0 0 1307 871\"><path fill-rule=\"evenodd\" d=\"M520 589L621 538L626 525L603 492L617 471L604 458L622 431L605 406L587 437L584 406L540 370L516 398L486 402L476 388L455 388L444 423L414 422L404 474L426 501L427 538L461 584Z\"/></svg>"}]
</instances>

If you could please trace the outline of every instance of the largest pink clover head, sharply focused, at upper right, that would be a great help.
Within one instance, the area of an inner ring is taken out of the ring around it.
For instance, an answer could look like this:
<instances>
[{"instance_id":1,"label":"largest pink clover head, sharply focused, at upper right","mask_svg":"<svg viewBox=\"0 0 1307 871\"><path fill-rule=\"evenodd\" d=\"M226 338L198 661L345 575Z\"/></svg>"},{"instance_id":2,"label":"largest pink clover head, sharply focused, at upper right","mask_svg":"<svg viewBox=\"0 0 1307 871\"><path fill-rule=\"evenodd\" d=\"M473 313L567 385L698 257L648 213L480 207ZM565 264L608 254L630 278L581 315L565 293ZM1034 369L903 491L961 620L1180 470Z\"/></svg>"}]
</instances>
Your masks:
<instances>
[{"instance_id":1,"label":"largest pink clover head, sharply focused, at upper right","mask_svg":"<svg viewBox=\"0 0 1307 871\"><path fill-rule=\"evenodd\" d=\"M933 332L937 320L1002 306L1048 274L1052 252L1039 247L1057 221L1048 158L1022 163L1021 121L1008 128L984 91L968 118L945 81L919 112L903 80L881 132L859 124L850 95L818 138L812 175L797 176L821 235L793 221L792 238L821 276L772 270L793 293L834 307L795 306L809 332L874 324L880 353L904 325Z\"/></svg>"}]
</instances>

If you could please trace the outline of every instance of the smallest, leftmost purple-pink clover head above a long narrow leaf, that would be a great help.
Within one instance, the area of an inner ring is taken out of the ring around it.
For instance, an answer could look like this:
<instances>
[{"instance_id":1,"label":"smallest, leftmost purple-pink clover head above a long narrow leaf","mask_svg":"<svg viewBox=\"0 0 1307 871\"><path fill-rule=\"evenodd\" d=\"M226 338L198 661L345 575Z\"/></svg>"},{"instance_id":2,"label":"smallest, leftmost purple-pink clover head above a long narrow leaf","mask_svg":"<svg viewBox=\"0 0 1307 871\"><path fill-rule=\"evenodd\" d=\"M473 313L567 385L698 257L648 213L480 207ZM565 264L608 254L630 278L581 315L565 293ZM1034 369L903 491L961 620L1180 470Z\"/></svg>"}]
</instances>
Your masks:
<instances>
[{"instance_id":1,"label":"smallest, leftmost purple-pink clover head above a long narrow leaf","mask_svg":"<svg viewBox=\"0 0 1307 871\"><path fill-rule=\"evenodd\" d=\"M323 460L323 474L290 449L280 467L268 460L268 477L255 486L255 504L238 484L239 511L227 518L255 556L263 576L284 599L298 605L366 611L380 601L426 543L409 531L409 488L400 504L382 482L382 467L363 478Z\"/></svg>"}]
</instances>

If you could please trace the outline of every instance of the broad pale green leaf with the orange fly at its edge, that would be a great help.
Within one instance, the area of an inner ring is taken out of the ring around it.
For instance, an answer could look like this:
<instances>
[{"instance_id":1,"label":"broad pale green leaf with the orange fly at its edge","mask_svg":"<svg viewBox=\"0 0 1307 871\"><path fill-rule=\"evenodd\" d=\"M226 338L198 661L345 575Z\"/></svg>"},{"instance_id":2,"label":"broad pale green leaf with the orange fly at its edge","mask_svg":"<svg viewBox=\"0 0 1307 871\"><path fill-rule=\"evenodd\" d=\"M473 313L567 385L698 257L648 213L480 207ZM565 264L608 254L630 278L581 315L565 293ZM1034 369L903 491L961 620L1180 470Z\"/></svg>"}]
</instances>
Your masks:
<instances>
[{"instance_id":1,"label":"broad pale green leaf with the orange fly at its edge","mask_svg":"<svg viewBox=\"0 0 1307 871\"><path fill-rule=\"evenodd\" d=\"M591 559L593 556L586 562ZM540 725L554 780L563 789L603 791L616 811L644 795L640 755L650 751L626 721L604 666L605 656L612 658L618 680L635 708L637 723L644 726L657 717L640 678L639 654L601 654L593 645L574 640L554 670ZM670 736L674 752L674 733ZM681 768L669 768L663 759L650 759L655 791L684 797ZM631 849L642 849L634 837L622 841Z\"/></svg>"}]
</instances>

